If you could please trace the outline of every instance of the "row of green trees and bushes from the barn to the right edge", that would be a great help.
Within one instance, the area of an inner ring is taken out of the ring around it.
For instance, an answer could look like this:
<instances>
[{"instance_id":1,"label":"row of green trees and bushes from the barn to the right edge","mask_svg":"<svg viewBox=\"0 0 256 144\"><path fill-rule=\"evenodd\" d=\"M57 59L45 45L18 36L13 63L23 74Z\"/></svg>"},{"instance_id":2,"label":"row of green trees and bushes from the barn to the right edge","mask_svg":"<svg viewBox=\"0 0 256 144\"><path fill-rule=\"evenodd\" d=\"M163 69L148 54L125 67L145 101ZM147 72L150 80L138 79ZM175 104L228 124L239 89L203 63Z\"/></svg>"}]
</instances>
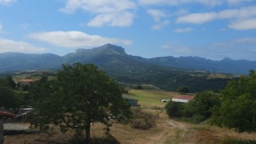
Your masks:
<instances>
[{"instance_id":1,"label":"row of green trees and bushes from the barn to the right edge","mask_svg":"<svg viewBox=\"0 0 256 144\"><path fill-rule=\"evenodd\" d=\"M201 92L186 104L170 101L166 104L170 118L180 118L200 123L210 118L210 123L238 132L256 131L256 74L250 70L248 77L228 82L219 94Z\"/></svg>"}]
</instances>

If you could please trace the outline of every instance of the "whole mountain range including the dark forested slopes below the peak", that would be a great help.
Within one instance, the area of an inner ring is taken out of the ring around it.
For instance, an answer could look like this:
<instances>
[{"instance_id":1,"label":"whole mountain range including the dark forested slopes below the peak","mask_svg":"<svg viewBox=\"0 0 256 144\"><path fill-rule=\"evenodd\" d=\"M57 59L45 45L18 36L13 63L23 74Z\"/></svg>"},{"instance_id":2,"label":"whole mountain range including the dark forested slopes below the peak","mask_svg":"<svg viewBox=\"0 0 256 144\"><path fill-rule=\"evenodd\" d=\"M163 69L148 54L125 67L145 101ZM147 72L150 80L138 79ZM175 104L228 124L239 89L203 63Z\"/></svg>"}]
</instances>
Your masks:
<instances>
[{"instance_id":1,"label":"whole mountain range including the dark forested slopes below the peak","mask_svg":"<svg viewBox=\"0 0 256 144\"><path fill-rule=\"evenodd\" d=\"M228 58L220 61L202 57L144 58L127 55L124 48L106 44L99 48L78 49L65 56L50 53L1 53L0 72L60 70L62 64L72 65L75 62L93 63L120 84L151 84L169 91L176 91L178 87L186 85L190 92L219 92L234 78L233 74L247 74L249 70L256 68L256 62ZM210 77L212 72L225 72L229 76Z\"/></svg>"}]
</instances>

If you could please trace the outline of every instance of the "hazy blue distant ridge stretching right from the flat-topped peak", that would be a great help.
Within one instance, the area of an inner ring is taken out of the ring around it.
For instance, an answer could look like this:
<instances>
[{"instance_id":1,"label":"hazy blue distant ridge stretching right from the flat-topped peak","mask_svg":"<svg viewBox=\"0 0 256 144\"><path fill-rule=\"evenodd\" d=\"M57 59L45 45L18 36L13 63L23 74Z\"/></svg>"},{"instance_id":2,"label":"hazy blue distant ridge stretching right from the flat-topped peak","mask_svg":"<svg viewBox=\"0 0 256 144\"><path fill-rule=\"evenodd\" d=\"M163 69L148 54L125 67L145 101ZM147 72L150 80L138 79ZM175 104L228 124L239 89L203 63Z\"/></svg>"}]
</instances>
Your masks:
<instances>
[{"instance_id":1,"label":"hazy blue distant ridge stretching right from the flat-topped peak","mask_svg":"<svg viewBox=\"0 0 256 144\"><path fill-rule=\"evenodd\" d=\"M134 57L134 56L132 56ZM256 69L256 61L232 60L224 58L220 61L209 60L203 57L134 57L140 62L148 62L165 67L176 67L186 70L204 70L210 72L228 72L235 74L247 74L249 70Z\"/></svg>"}]
</instances>

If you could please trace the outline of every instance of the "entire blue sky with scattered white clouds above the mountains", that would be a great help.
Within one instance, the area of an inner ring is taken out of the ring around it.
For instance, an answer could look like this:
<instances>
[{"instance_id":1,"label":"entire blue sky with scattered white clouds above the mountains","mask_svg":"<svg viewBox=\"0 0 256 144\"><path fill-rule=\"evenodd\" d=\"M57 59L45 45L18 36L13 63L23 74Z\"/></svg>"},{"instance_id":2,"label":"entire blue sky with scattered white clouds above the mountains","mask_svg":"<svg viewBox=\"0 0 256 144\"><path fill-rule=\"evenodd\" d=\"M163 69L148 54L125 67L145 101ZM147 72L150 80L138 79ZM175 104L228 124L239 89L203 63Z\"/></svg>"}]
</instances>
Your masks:
<instances>
[{"instance_id":1,"label":"entire blue sky with scattered white clouds above the mountains","mask_svg":"<svg viewBox=\"0 0 256 144\"><path fill-rule=\"evenodd\" d=\"M119 45L141 57L256 60L255 0L0 0L0 53Z\"/></svg>"}]
</instances>

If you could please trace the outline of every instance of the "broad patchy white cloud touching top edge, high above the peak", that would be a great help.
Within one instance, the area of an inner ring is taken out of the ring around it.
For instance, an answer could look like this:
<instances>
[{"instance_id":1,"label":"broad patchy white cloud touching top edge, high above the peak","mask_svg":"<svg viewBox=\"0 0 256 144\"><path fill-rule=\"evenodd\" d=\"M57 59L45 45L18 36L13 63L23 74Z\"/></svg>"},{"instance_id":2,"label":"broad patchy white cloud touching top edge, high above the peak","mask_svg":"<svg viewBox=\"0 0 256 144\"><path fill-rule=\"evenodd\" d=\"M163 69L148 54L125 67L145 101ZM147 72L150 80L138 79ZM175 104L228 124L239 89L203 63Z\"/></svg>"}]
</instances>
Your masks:
<instances>
[{"instance_id":1,"label":"broad patchy white cloud touching top edge, high above the peak","mask_svg":"<svg viewBox=\"0 0 256 144\"><path fill-rule=\"evenodd\" d=\"M95 14L95 17L87 23L87 26L130 26L134 18L136 4L132 0L66 0L65 8L60 9L64 13L73 13L82 9Z\"/></svg>"}]
</instances>

